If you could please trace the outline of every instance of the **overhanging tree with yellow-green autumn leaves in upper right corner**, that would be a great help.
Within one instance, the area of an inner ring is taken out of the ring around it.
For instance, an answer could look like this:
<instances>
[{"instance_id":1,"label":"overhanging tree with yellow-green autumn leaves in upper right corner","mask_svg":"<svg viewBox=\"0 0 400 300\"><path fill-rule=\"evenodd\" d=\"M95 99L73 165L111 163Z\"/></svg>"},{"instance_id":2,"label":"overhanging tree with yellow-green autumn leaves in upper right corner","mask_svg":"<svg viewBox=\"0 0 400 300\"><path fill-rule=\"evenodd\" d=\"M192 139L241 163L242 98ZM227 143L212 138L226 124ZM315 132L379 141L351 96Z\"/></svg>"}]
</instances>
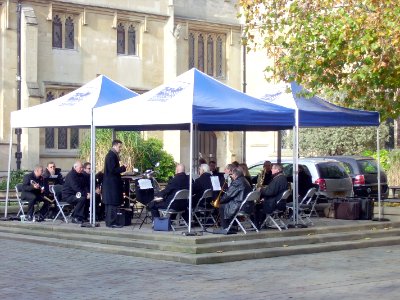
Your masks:
<instances>
[{"instance_id":1,"label":"overhanging tree with yellow-green autumn leaves in upper right corner","mask_svg":"<svg viewBox=\"0 0 400 300\"><path fill-rule=\"evenodd\" d=\"M248 50L269 80L296 81L347 107L400 113L398 0L239 0Z\"/></svg>"}]
</instances>

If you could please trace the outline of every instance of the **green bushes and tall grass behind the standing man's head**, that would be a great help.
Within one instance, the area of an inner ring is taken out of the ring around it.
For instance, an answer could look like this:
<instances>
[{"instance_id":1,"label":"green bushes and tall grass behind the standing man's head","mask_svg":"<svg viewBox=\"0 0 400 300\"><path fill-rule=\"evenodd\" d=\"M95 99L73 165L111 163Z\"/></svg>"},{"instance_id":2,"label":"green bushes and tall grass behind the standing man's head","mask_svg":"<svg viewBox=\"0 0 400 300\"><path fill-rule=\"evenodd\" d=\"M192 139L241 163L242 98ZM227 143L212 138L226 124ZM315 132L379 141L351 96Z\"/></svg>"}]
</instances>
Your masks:
<instances>
[{"instance_id":1,"label":"green bushes and tall grass behind the standing man's head","mask_svg":"<svg viewBox=\"0 0 400 300\"><path fill-rule=\"evenodd\" d=\"M144 140L140 133L134 131L118 131L116 138L123 142L121 161L130 168L137 168L140 172L154 168L159 162L157 178L166 181L174 175L175 162L173 157L163 150L160 140L149 138ZM111 148L112 130L96 130L96 171L103 169L104 159ZM86 136L80 146L80 158L90 160L90 136Z\"/></svg>"}]
</instances>

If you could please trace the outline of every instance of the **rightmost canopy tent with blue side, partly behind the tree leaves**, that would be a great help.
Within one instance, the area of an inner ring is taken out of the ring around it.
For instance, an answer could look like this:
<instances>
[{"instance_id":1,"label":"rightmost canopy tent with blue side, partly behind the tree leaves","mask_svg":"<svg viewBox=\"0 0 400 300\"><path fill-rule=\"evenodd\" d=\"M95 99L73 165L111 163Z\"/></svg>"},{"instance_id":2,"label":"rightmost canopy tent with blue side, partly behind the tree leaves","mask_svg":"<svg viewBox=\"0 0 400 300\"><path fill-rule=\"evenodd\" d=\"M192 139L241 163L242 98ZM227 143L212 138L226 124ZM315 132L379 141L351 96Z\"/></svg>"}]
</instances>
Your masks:
<instances>
[{"instance_id":1,"label":"rightmost canopy tent with blue side, partly behind the tree leaves","mask_svg":"<svg viewBox=\"0 0 400 300\"><path fill-rule=\"evenodd\" d=\"M341 127L341 126L376 126L377 127L377 152L378 152L378 174L380 174L379 161L379 113L375 111L363 111L349 109L332 104L318 96L307 98L309 92L297 83L280 83L268 87L261 99L295 110L295 134L293 135L293 162L294 162L294 190L298 195L298 129L299 127ZM378 176L378 203L379 219L381 219L381 184ZM295 203L294 201L293 203Z\"/></svg>"}]
</instances>

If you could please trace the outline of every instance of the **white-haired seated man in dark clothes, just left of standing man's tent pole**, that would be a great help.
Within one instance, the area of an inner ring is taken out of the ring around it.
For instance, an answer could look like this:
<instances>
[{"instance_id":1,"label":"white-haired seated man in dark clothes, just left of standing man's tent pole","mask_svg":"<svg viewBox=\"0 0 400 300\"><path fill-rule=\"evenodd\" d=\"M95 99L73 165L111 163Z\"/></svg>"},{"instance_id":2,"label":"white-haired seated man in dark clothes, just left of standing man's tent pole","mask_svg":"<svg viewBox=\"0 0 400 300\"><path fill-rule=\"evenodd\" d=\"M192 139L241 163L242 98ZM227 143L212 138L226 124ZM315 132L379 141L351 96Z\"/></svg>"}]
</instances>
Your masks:
<instances>
[{"instance_id":1,"label":"white-haired seated man in dark clothes, just left of standing man's tent pole","mask_svg":"<svg viewBox=\"0 0 400 300\"><path fill-rule=\"evenodd\" d=\"M72 214L72 223L83 223L87 220L87 212L90 205L89 189L87 179L83 174L82 162L78 160L65 177L62 190L63 200L75 206Z\"/></svg>"}]
</instances>

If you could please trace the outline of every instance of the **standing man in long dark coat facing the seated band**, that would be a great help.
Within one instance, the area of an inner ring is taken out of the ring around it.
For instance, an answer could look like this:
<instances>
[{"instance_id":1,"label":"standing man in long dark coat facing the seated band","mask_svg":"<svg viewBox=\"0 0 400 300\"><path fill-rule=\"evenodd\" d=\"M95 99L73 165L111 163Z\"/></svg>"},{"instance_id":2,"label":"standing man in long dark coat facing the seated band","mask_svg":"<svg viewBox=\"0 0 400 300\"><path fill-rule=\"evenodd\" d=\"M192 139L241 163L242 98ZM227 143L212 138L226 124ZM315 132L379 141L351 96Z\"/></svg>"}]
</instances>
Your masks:
<instances>
[{"instance_id":1,"label":"standing man in long dark coat facing the seated band","mask_svg":"<svg viewBox=\"0 0 400 300\"><path fill-rule=\"evenodd\" d=\"M117 208L123 200L121 173L126 171L126 167L119 164L121 149L122 142L113 140L104 162L103 202L106 206L106 226L111 228L122 227L117 225Z\"/></svg>"}]
</instances>

